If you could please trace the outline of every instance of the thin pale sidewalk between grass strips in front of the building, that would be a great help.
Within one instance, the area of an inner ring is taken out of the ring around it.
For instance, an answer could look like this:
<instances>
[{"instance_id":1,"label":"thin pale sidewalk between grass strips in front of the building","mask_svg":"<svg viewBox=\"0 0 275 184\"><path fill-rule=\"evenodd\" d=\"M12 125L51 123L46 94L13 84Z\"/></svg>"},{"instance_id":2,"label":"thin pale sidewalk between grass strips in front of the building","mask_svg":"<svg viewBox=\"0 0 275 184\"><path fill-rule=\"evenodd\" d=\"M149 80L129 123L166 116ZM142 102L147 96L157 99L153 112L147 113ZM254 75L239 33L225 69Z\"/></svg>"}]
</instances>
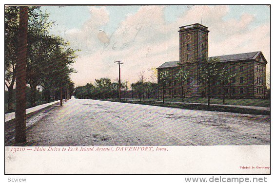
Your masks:
<instances>
[{"instance_id":1,"label":"thin pale sidewalk between grass strips in front of the building","mask_svg":"<svg viewBox=\"0 0 275 184\"><path fill-rule=\"evenodd\" d=\"M128 101L139 101L139 100L128 100ZM161 100L145 100L144 102L162 102ZM174 103L174 104L195 104L195 105L207 105L207 103L190 103L190 102L165 102L164 103ZM221 107L236 107L243 109L252 109L252 110L266 110L270 111L270 108L266 107L255 107L255 106L238 106L238 105L223 105L223 104L210 104L210 106L221 106Z\"/></svg>"}]
</instances>

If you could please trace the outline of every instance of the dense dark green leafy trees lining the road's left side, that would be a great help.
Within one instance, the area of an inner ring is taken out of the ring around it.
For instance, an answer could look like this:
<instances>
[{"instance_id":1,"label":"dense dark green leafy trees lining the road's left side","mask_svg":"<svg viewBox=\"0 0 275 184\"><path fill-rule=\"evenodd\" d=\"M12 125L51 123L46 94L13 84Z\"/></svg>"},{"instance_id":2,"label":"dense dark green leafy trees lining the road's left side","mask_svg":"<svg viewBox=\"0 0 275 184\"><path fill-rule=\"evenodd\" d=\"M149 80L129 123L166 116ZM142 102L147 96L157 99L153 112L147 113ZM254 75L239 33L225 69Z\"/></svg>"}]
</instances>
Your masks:
<instances>
[{"instance_id":1,"label":"dense dark green leafy trees lining the road's left side","mask_svg":"<svg viewBox=\"0 0 275 184\"><path fill-rule=\"evenodd\" d=\"M76 60L76 50L69 47L68 42L59 36L50 35L53 21L39 6L28 7L27 31L27 95L31 106L35 106L38 97L44 102L58 100L59 87L68 86L70 95L74 83L70 74L75 72L71 64ZM8 111L14 111L14 88L16 85L17 52L19 34L19 6L5 7L5 87L8 91ZM65 89L63 89L65 90ZM65 96L64 96L65 97ZM28 100L27 99L27 100Z\"/></svg>"}]
</instances>

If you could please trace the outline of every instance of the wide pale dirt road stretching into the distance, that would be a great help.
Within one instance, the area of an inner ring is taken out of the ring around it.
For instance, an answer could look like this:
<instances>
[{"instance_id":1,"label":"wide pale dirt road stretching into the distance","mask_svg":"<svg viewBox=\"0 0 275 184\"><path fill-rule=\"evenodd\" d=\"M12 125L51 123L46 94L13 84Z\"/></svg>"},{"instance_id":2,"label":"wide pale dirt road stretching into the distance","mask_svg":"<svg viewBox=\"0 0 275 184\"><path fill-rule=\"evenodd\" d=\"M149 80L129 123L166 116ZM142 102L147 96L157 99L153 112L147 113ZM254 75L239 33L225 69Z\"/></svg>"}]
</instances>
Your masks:
<instances>
[{"instance_id":1,"label":"wide pale dirt road stretching into the distance","mask_svg":"<svg viewBox=\"0 0 275 184\"><path fill-rule=\"evenodd\" d=\"M268 115L74 99L29 121L25 146L270 145Z\"/></svg>"}]
</instances>

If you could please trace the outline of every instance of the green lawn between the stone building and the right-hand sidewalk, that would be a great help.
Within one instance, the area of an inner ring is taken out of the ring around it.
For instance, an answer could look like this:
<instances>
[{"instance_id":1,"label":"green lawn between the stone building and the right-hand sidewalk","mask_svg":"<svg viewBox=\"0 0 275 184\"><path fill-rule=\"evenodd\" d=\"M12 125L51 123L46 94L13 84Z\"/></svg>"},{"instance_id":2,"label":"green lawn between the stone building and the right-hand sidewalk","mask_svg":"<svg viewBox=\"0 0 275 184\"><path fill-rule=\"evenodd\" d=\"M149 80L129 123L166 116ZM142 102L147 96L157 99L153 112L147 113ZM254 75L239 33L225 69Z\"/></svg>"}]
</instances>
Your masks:
<instances>
[{"instance_id":1,"label":"green lawn between the stone building and the right-hand sidewalk","mask_svg":"<svg viewBox=\"0 0 275 184\"><path fill-rule=\"evenodd\" d=\"M130 100L130 99L129 99ZM134 98L136 100L136 98ZM137 99L139 100L139 99ZM156 98L146 98L144 101L157 101ZM143 99L142 99L143 101ZM159 98L159 101L162 101ZM165 102L182 102L181 98L165 98ZM207 104L207 98L184 98L184 102L189 103L202 103ZM210 104L223 104L222 99L211 98ZM225 99L226 105L239 105L239 106L255 106L255 107L270 107L270 99Z\"/></svg>"}]
</instances>

